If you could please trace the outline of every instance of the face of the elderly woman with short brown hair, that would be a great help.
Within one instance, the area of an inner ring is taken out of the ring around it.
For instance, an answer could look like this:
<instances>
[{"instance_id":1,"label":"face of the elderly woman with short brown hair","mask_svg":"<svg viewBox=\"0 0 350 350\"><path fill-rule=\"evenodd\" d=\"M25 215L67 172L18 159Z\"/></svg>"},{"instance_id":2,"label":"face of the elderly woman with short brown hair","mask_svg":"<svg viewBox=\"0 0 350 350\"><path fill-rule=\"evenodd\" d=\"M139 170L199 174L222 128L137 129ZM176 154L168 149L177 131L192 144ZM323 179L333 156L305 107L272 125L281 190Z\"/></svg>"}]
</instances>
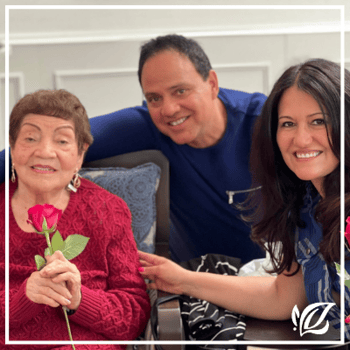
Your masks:
<instances>
[{"instance_id":1,"label":"face of the elderly woman with short brown hair","mask_svg":"<svg viewBox=\"0 0 350 350\"><path fill-rule=\"evenodd\" d=\"M83 161L74 123L37 114L24 117L11 155L19 186L35 193L64 190Z\"/></svg>"}]
</instances>

